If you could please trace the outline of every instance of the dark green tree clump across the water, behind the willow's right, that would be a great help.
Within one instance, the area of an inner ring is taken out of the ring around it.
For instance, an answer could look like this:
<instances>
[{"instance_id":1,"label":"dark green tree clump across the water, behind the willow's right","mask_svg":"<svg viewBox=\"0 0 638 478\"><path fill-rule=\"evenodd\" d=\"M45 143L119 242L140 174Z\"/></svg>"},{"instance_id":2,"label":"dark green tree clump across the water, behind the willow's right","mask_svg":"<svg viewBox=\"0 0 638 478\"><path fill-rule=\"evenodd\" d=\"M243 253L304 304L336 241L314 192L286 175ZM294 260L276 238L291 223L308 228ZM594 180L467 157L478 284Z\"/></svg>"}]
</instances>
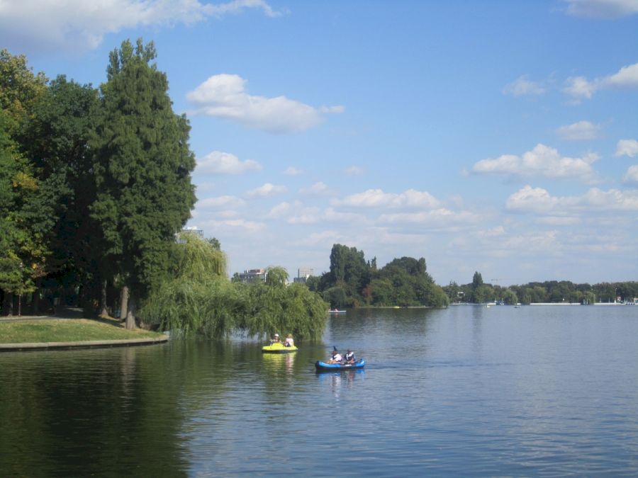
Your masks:
<instances>
[{"instance_id":1,"label":"dark green tree clump across the water, behind the willow's right","mask_svg":"<svg viewBox=\"0 0 638 478\"><path fill-rule=\"evenodd\" d=\"M342 244L332 246L330 271L308 278L307 285L332 307L448 304L447 295L427 273L424 258L396 258L378 269L376 258L366 261L363 251Z\"/></svg>"}]
</instances>

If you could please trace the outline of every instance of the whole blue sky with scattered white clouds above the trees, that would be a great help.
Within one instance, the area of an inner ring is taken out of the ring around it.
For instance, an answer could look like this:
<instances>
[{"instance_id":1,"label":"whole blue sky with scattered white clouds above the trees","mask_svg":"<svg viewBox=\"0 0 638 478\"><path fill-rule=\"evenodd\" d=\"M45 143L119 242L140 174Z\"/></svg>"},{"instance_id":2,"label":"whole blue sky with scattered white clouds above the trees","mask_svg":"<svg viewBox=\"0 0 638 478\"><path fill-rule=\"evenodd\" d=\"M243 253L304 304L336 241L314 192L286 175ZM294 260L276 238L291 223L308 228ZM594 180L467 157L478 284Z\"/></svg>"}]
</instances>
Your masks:
<instances>
[{"instance_id":1,"label":"whole blue sky with scattered white clouds above the trees","mask_svg":"<svg viewBox=\"0 0 638 478\"><path fill-rule=\"evenodd\" d=\"M637 279L638 0L0 2L50 78L139 37L229 275L339 243L441 285Z\"/></svg>"}]
</instances>

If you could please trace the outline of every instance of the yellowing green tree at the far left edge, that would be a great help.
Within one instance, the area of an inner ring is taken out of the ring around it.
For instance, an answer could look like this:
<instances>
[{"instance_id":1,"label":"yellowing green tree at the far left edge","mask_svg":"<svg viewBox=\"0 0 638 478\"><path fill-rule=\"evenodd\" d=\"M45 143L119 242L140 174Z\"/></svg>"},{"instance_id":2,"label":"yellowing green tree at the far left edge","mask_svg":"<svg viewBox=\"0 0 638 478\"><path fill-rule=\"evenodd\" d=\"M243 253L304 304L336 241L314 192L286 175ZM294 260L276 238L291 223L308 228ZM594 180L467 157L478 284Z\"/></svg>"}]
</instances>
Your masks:
<instances>
[{"instance_id":1,"label":"yellowing green tree at the far left edge","mask_svg":"<svg viewBox=\"0 0 638 478\"><path fill-rule=\"evenodd\" d=\"M0 289L9 314L12 295L18 295L19 304L23 292L35 289L50 253L45 242L52 223L50 198L20 144L46 82L44 74L33 74L26 57L0 50Z\"/></svg>"}]
</instances>

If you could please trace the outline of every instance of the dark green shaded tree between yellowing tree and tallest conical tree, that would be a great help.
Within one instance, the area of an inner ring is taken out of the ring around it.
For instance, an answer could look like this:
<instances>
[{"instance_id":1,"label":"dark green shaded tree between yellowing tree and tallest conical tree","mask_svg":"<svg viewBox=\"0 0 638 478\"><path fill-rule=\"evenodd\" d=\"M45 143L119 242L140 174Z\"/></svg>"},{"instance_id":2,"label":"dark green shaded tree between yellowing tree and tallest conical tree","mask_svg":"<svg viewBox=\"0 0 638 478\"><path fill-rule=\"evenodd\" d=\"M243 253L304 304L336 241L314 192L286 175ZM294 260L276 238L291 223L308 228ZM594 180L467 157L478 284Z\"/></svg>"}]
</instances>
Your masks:
<instances>
[{"instance_id":1,"label":"dark green shaded tree between yellowing tree and tallest conical tree","mask_svg":"<svg viewBox=\"0 0 638 478\"><path fill-rule=\"evenodd\" d=\"M43 198L35 222L52 253L45 272L60 283L88 281L100 254L89 217L96 197L89 137L97 106L96 89L58 76L33 106L21 135Z\"/></svg>"}]
</instances>

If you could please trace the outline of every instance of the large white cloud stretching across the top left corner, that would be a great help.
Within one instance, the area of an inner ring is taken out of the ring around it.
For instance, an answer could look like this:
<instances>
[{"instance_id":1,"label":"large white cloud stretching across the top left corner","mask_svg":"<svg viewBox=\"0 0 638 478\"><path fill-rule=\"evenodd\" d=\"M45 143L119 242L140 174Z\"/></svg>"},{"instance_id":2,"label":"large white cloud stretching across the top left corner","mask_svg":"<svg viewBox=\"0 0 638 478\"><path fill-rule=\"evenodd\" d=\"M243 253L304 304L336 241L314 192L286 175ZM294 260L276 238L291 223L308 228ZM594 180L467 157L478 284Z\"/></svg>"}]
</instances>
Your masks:
<instances>
[{"instance_id":1,"label":"large white cloud stretching across the top left corner","mask_svg":"<svg viewBox=\"0 0 638 478\"><path fill-rule=\"evenodd\" d=\"M0 43L18 50L82 52L125 28L189 25L258 9L278 16L263 0L205 4L198 0L0 1Z\"/></svg>"}]
</instances>

